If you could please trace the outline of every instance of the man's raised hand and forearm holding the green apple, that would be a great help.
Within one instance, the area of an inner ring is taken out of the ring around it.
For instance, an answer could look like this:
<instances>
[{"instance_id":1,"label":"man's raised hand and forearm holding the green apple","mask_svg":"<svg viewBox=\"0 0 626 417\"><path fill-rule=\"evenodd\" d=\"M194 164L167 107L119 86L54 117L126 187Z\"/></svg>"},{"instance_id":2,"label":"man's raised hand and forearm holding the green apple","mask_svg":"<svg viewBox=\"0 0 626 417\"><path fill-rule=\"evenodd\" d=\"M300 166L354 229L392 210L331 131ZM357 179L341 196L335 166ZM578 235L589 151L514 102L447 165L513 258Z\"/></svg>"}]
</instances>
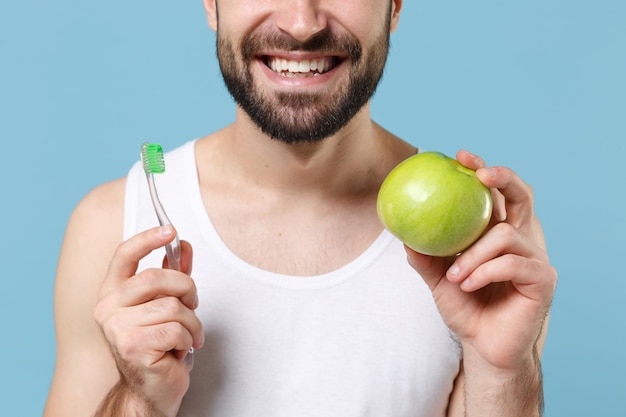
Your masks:
<instances>
[{"instance_id":1,"label":"man's raised hand and forearm holding the green apple","mask_svg":"<svg viewBox=\"0 0 626 417\"><path fill-rule=\"evenodd\" d=\"M557 274L534 213L532 189L508 168L486 168L467 152L457 159L495 190L489 230L454 258L407 248L409 263L463 347L448 415L540 416L540 352Z\"/></svg>"}]
</instances>

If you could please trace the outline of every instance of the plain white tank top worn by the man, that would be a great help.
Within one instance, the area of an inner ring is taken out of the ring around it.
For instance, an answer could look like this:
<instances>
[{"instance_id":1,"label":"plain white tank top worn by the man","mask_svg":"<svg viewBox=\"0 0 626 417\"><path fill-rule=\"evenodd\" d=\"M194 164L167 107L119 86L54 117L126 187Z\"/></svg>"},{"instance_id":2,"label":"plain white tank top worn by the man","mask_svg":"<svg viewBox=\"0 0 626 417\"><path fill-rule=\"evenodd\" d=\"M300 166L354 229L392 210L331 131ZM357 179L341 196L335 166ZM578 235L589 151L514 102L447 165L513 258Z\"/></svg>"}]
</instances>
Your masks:
<instances>
[{"instance_id":1,"label":"plain white tank top worn by the man","mask_svg":"<svg viewBox=\"0 0 626 417\"><path fill-rule=\"evenodd\" d=\"M443 417L460 347L397 239L319 276L254 267L224 245L200 195L194 141L165 155L159 196L194 248L205 346L179 416ZM157 225L140 163L124 233ZM263 245L263 242L259 242ZM140 269L160 267L164 251Z\"/></svg>"}]
</instances>

